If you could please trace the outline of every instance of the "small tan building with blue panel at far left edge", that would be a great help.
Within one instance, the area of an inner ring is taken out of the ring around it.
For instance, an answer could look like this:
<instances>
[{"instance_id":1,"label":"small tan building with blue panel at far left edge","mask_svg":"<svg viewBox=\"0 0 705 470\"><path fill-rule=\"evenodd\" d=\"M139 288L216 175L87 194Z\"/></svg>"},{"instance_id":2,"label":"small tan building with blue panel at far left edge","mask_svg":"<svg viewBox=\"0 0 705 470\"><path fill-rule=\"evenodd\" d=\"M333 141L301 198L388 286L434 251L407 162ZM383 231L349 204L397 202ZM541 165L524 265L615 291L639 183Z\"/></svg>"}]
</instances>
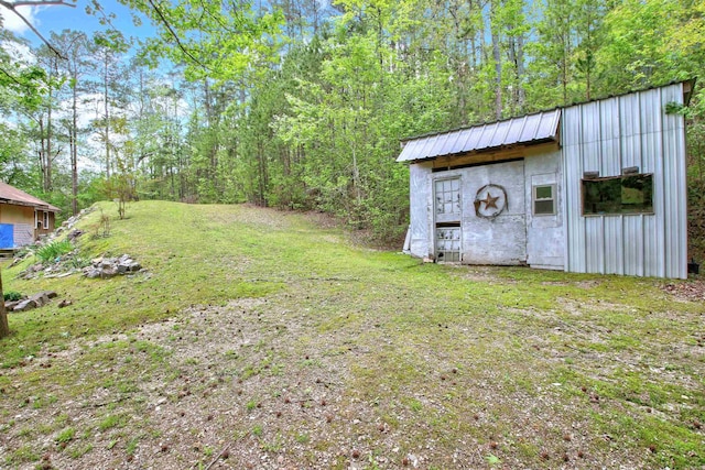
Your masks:
<instances>
[{"instance_id":1,"label":"small tan building with blue panel at far left edge","mask_svg":"<svg viewBox=\"0 0 705 470\"><path fill-rule=\"evenodd\" d=\"M57 207L0 182L0 249L34 243L54 230Z\"/></svg>"}]
</instances>

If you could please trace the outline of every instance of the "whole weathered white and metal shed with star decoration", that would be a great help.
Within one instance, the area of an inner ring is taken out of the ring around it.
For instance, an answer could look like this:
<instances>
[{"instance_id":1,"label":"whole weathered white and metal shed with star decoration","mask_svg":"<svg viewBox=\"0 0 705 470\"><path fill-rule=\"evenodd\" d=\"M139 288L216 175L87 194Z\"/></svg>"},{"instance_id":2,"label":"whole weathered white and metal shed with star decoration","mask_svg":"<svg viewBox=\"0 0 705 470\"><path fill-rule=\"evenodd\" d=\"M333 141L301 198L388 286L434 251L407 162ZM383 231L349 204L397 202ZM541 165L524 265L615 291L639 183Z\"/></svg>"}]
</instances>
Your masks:
<instances>
[{"instance_id":1,"label":"whole weathered white and metal shed with star decoration","mask_svg":"<svg viewBox=\"0 0 705 470\"><path fill-rule=\"evenodd\" d=\"M687 277L693 80L402 142L404 250L464 264Z\"/></svg>"}]
</instances>

